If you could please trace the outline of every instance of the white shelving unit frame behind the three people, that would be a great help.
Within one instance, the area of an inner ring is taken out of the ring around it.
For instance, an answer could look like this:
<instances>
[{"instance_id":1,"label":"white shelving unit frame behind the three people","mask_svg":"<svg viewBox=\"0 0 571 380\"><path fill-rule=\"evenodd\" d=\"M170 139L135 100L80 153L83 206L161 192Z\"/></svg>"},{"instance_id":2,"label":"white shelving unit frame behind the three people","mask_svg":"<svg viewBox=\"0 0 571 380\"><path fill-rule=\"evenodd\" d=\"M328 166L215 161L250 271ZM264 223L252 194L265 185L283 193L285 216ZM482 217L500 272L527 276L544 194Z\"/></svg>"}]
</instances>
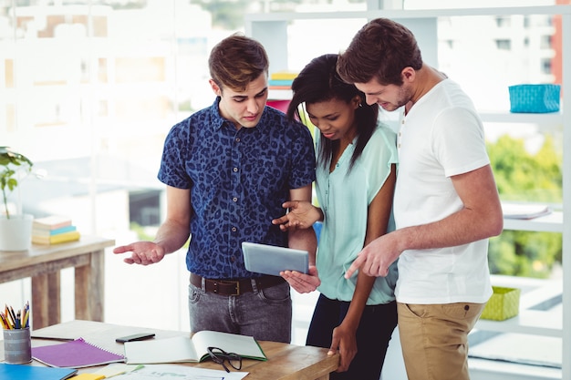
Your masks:
<instances>
[{"instance_id":1,"label":"white shelving unit frame behind the three people","mask_svg":"<svg viewBox=\"0 0 571 380\"><path fill-rule=\"evenodd\" d=\"M262 42L270 58L270 72L288 68L287 39L288 25L296 20L338 20L342 27L343 20L362 20L364 24L369 19L388 17L405 26L417 36L424 60L438 66L438 36L437 21L439 17L447 16L474 16L474 15L560 15L562 18L563 39L563 83L561 112L552 114L511 114L509 112L482 112L484 122L497 123L535 123L545 125L563 125L563 206L562 211L555 211L545 217L534 220L505 220L504 230L518 231L547 231L560 232L563 235L563 272L564 279L560 282L544 282L534 291L527 293L522 299L520 315L503 321L480 321L476 328L504 333L538 334L562 338L563 363L562 378L571 380L571 224L564 221L565 215L571 215L571 5L550 6L522 6L522 7L493 7L471 9L439 9L439 10L368 10L362 12L327 12L327 13L276 13L246 15L245 32ZM348 31L355 33L354 29ZM307 45L300 48L310 49L313 42L327 36L327 30L316 28L315 34L305 36ZM312 41L312 38L314 40ZM270 95L271 97L272 94ZM277 96L277 94L276 94ZM286 96L279 94L279 96ZM565 114L563 111L567 110ZM540 303L545 299L561 296L562 311L541 312L530 309L533 303Z\"/></svg>"}]
</instances>

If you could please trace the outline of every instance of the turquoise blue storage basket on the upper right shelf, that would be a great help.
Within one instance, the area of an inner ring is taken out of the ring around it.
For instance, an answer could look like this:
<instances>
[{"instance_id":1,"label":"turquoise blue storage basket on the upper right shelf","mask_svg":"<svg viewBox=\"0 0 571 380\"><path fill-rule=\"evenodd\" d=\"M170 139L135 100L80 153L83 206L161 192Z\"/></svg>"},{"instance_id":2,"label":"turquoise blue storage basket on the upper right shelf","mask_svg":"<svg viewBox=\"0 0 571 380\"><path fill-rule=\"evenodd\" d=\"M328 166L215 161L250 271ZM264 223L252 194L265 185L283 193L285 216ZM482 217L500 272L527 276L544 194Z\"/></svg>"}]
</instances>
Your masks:
<instances>
[{"instance_id":1,"label":"turquoise blue storage basket on the upper right shelf","mask_svg":"<svg viewBox=\"0 0 571 380\"><path fill-rule=\"evenodd\" d=\"M510 90L510 112L545 113L559 110L559 85L517 85Z\"/></svg>"}]
</instances>

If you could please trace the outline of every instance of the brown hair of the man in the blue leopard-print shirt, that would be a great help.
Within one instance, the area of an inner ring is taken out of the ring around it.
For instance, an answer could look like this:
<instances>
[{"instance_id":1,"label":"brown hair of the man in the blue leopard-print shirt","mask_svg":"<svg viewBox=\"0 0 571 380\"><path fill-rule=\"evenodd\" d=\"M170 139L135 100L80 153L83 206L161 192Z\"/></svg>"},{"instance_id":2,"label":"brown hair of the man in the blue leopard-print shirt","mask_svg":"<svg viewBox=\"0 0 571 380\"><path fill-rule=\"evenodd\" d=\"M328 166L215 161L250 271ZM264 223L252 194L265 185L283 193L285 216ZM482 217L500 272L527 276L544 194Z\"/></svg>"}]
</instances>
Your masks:
<instances>
[{"instance_id":1,"label":"brown hair of the man in the blue leopard-print shirt","mask_svg":"<svg viewBox=\"0 0 571 380\"><path fill-rule=\"evenodd\" d=\"M244 91L260 75L267 75L269 60L262 44L253 38L234 33L213 47L208 67L218 87Z\"/></svg>"}]
</instances>

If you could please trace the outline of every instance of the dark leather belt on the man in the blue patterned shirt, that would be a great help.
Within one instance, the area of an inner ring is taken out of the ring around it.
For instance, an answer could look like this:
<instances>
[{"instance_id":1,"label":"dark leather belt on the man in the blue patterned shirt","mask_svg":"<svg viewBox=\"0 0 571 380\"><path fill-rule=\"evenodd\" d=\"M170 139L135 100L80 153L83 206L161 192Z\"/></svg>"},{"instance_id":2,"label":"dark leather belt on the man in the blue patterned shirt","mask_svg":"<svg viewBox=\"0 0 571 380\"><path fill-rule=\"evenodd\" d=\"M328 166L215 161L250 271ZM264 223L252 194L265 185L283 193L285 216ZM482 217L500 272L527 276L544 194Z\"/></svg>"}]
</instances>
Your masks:
<instances>
[{"instance_id":1,"label":"dark leather belt on the man in the blue patterned shirt","mask_svg":"<svg viewBox=\"0 0 571 380\"><path fill-rule=\"evenodd\" d=\"M216 293L220 295L240 295L244 293L254 292L252 280L255 281L255 288L259 291L272 286L284 283L283 277L279 276L262 276L253 279L241 280L211 280L204 279L204 287L202 288L202 277L198 274L191 273L191 283L197 288L201 288L204 292Z\"/></svg>"}]
</instances>

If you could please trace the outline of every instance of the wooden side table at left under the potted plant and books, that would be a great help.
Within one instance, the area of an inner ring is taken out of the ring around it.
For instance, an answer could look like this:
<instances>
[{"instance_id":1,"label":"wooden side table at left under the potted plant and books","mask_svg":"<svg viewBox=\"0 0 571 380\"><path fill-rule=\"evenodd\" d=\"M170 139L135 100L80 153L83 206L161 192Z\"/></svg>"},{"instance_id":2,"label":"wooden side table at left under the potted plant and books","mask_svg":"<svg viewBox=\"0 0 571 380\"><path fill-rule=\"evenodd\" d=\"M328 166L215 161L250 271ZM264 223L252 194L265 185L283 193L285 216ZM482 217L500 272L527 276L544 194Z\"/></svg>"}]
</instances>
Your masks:
<instances>
[{"instance_id":1,"label":"wooden side table at left under the potted plant and books","mask_svg":"<svg viewBox=\"0 0 571 380\"><path fill-rule=\"evenodd\" d=\"M103 321L105 248L115 241L81 236L79 241L0 252L0 283L32 278L32 327L59 324L59 272L75 268L76 318Z\"/></svg>"}]
</instances>

